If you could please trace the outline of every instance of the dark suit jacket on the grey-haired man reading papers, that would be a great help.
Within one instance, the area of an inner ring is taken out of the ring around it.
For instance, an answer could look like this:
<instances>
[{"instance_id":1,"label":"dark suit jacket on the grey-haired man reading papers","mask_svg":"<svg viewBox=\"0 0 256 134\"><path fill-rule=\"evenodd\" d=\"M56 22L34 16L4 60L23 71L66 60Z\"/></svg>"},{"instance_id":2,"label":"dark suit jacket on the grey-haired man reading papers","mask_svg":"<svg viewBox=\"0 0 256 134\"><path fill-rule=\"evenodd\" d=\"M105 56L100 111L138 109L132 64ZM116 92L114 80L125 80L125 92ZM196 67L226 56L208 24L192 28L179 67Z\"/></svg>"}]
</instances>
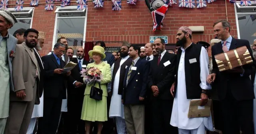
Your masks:
<instances>
[{"instance_id":1,"label":"dark suit jacket on the grey-haired man reading papers","mask_svg":"<svg viewBox=\"0 0 256 134\"><path fill-rule=\"evenodd\" d=\"M66 99L66 80L74 81L72 77L66 74L55 74L54 69L61 69L66 64L60 59L60 65L53 54L42 57L44 62L44 97L57 98L59 95Z\"/></svg>"}]
</instances>

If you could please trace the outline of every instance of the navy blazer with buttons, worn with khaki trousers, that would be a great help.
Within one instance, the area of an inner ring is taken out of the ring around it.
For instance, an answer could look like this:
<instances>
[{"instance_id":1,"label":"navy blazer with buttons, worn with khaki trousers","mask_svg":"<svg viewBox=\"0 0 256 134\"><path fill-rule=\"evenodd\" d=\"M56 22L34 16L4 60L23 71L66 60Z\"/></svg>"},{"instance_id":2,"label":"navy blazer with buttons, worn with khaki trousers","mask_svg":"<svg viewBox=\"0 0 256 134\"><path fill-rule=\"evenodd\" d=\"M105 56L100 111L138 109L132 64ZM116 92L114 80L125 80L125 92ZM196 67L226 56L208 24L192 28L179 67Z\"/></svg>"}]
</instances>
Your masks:
<instances>
[{"instance_id":1,"label":"navy blazer with buttons, worn with khaki trousers","mask_svg":"<svg viewBox=\"0 0 256 134\"><path fill-rule=\"evenodd\" d=\"M126 67L125 77L124 77L124 91L122 94L122 99L124 104L143 104L139 100L139 97L146 97L147 91L147 79L150 63L146 60L138 59L134 67L137 67L136 71L132 70L128 85L126 87L127 74L130 66Z\"/></svg>"}]
</instances>

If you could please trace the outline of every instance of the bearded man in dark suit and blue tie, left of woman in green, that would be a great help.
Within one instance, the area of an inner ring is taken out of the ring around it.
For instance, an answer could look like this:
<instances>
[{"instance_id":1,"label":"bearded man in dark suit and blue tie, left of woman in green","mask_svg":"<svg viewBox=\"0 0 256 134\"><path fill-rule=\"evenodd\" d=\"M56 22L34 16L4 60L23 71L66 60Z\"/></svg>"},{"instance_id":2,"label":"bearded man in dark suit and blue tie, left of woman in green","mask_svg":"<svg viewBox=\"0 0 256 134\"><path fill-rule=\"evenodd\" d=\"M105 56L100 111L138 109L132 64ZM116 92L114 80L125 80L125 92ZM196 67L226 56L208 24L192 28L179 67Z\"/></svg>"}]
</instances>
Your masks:
<instances>
[{"instance_id":1,"label":"bearded man in dark suit and blue tie, left of woman in green","mask_svg":"<svg viewBox=\"0 0 256 134\"><path fill-rule=\"evenodd\" d=\"M89 61L84 60L83 48L78 48L76 58L72 59L72 62L77 65L71 71L71 76L75 81L68 84L68 126L66 127L70 134L85 134L85 122L81 120L81 111L86 85L83 84L80 71L86 69Z\"/></svg>"}]
</instances>

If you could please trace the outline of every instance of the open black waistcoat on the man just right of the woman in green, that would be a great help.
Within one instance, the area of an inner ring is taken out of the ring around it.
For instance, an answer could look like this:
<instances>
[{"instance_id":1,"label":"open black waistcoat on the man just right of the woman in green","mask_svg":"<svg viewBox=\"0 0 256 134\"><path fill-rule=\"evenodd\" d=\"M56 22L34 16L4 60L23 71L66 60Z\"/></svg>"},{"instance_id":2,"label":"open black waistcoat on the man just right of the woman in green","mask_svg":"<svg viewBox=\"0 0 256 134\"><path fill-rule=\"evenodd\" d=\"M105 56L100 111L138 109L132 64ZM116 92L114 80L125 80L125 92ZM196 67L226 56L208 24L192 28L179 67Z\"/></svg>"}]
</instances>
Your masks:
<instances>
[{"instance_id":1,"label":"open black waistcoat on the man just right of the woman in green","mask_svg":"<svg viewBox=\"0 0 256 134\"><path fill-rule=\"evenodd\" d=\"M118 59L114 64L113 76L112 76L112 86L111 86L111 93L113 93L114 81L116 77L116 72L119 69L121 59ZM119 85L118 85L118 95L122 95L123 92L123 85L124 85L124 77L125 77L125 67L132 64L132 58L128 58L120 67L120 76L119 76Z\"/></svg>"}]
</instances>

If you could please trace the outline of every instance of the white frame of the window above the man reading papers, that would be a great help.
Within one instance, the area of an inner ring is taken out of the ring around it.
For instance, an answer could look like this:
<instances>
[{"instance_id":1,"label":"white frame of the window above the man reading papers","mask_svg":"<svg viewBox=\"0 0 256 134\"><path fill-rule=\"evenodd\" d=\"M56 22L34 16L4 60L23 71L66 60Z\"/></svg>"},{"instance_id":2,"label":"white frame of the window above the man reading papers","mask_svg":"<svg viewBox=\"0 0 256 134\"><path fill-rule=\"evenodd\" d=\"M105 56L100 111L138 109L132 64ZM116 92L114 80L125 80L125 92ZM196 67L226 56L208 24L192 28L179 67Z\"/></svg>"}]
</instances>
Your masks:
<instances>
[{"instance_id":1,"label":"white frame of the window above the man reading papers","mask_svg":"<svg viewBox=\"0 0 256 134\"><path fill-rule=\"evenodd\" d=\"M61 9L74 9L73 11L61 11ZM59 13L65 13L65 12L85 12L85 16L74 16L74 17L58 17ZM52 38L52 51L53 47L56 42L57 38L57 25L58 25L58 19L72 19L72 18L84 18L84 35L83 35L83 48L84 48L84 43L85 43L85 37L86 37L86 25L87 25L87 13L88 13L88 8L86 7L84 10L77 10L77 6L66 6L66 7L61 7L57 6L55 10L55 23L54 23L54 33L53 33L53 38ZM76 58L76 55L73 55L73 58Z\"/></svg>"}]
</instances>

